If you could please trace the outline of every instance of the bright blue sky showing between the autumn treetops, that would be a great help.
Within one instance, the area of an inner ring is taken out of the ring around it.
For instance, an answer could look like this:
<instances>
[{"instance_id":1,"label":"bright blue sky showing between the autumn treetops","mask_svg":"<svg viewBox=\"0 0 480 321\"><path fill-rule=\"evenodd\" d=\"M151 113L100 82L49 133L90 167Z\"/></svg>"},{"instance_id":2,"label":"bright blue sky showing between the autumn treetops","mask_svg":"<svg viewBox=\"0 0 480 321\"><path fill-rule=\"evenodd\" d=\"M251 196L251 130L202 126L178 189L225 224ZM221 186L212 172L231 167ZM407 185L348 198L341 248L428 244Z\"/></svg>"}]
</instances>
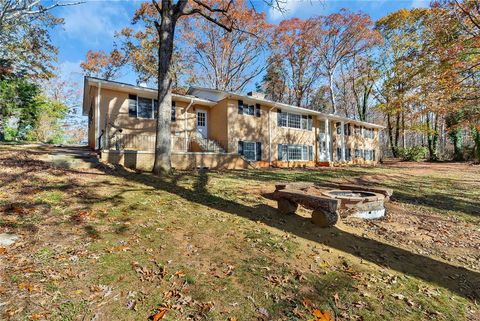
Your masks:
<instances>
[{"instance_id":1,"label":"bright blue sky showing between the autumn treetops","mask_svg":"<svg viewBox=\"0 0 480 321\"><path fill-rule=\"evenodd\" d=\"M77 6L55 9L55 14L65 19L65 24L58 27L52 34L53 43L59 48L59 73L82 84L82 74L79 67L86 52L112 48L115 31L128 26L135 9L141 1L87 1ZM256 9L266 11L270 22L278 23L282 19L299 17L308 18L336 12L341 8L351 11L368 13L377 20L390 12L401 8L427 6L428 1L422 0L358 0L358 1L316 1L316 0L285 0L287 12L280 14L265 6L263 1L253 1ZM135 76L126 74L120 81L135 83ZM254 83L249 88L252 89Z\"/></svg>"}]
</instances>

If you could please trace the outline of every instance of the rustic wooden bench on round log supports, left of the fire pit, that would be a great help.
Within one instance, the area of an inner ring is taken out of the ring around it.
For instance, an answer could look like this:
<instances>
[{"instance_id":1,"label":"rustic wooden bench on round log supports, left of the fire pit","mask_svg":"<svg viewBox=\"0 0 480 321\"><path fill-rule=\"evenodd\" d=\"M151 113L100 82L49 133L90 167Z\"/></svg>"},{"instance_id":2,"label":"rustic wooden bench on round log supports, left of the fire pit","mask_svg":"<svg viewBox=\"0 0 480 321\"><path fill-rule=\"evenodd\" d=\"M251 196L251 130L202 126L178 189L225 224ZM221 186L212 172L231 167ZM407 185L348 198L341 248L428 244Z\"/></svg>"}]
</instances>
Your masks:
<instances>
[{"instance_id":1,"label":"rustic wooden bench on round log supports, left of the fire pit","mask_svg":"<svg viewBox=\"0 0 480 321\"><path fill-rule=\"evenodd\" d=\"M337 223L340 200L330 197L311 195L306 190L313 183L277 184L273 193L277 200L278 211L282 214L294 214L298 205L312 210L312 222L321 227L333 226Z\"/></svg>"}]
</instances>

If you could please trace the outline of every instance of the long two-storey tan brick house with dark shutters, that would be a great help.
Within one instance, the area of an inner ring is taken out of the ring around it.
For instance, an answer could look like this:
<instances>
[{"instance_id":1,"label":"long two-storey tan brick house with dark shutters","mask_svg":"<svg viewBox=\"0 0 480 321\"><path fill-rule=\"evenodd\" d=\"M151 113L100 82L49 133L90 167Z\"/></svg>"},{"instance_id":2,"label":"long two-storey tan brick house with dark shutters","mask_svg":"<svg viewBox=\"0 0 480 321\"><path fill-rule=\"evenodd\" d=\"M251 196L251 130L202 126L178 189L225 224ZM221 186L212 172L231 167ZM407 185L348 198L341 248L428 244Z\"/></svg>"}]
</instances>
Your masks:
<instances>
[{"instance_id":1,"label":"long two-storey tan brick house with dark shutters","mask_svg":"<svg viewBox=\"0 0 480 321\"><path fill-rule=\"evenodd\" d=\"M102 159L153 165L155 89L86 77L88 144ZM383 126L240 95L191 87L172 94L172 166L249 168L375 165Z\"/></svg>"}]
</instances>

